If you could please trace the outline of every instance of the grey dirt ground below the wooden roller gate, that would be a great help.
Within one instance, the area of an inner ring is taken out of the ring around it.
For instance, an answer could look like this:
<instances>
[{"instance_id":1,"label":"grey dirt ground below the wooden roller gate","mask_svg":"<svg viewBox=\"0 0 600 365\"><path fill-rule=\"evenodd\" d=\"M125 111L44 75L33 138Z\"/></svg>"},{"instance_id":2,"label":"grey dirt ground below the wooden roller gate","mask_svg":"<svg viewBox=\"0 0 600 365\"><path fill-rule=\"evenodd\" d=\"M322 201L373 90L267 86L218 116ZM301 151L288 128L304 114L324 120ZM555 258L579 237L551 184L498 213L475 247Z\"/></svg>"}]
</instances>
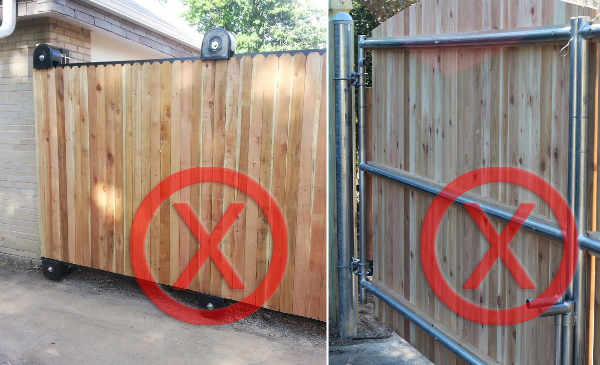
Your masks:
<instances>
[{"instance_id":1,"label":"grey dirt ground below the wooden roller gate","mask_svg":"<svg viewBox=\"0 0 600 365\"><path fill-rule=\"evenodd\" d=\"M196 296L172 294L194 304ZM325 364L324 323L259 309L193 326L131 279L76 269L60 281L0 258L0 364Z\"/></svg>"}]
</instances>

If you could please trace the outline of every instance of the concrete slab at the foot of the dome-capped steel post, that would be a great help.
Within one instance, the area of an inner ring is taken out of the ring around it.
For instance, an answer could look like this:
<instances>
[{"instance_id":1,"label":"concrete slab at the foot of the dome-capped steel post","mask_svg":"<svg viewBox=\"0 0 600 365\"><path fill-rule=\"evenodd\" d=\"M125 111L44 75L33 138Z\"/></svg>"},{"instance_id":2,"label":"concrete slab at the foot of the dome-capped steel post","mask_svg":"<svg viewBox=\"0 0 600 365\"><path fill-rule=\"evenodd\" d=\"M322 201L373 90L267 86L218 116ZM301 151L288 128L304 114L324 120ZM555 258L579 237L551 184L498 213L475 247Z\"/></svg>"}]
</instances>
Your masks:
<instances>
[{"instance_id":1,"label":"concrete slab at the foot of the dome-capped steel post","mask_svg":"<svg viewBox=\"0 0 600 365\"><path fill-rule=\"evenodd\" d=\"M329 365L433 365L403 338L394 334L385 340L349 346L330 346Z\"/></svg>"}]
</instances>

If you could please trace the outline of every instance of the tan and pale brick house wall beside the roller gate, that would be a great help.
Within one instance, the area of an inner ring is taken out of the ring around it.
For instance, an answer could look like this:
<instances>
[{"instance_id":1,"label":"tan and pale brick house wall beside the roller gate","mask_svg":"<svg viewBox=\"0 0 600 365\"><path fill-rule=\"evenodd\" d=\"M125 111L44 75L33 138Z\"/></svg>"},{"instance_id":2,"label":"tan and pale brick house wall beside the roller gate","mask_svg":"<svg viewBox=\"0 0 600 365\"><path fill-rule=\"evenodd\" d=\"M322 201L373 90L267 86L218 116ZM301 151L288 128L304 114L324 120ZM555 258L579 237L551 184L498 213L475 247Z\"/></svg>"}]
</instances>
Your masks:
<instances>
[{"instance_id":1,"label":"tan and pale brick house wall beside the roller gate","mask_svg":"<svg viewBox=\"0 0 600 365\"><path fill-rule=\"evenodd\" d=\"M44 42L90 60L89 31L52 18L0 38L0 254L40 258L32 54Z\"/></svg>"}]
</instances>

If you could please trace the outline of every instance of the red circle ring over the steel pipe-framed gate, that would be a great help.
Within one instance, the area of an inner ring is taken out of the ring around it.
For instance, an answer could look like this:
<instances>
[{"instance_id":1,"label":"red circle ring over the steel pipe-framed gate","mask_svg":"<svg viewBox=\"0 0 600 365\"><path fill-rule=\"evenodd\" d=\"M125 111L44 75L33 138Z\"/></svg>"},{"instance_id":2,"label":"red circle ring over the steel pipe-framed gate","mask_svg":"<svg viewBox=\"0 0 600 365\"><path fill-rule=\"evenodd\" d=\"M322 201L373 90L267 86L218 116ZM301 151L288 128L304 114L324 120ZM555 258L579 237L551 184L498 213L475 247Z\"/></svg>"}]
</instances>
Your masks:
<instances>
[{"instance_id":1,"label":"red circle ring over the steel pipe-framed gate","mask_svg":"<svg viewBox=\"0 0 600 365\"><path fill-rule=\"evenodd\" d=\"M462 194L481 185L506 182L535 193L550 206L559 221L563 238L560 267L554 279L539 298L565 293L575 274L578 257L577 226L565 199L547 181L531 172L517 168L492 167L467 172L456 178L435 197L421 227L421 266L425 278L436 296L455 314L479 324L503 326L524 323L538 317L539 308L527 308L526 304L509 309L483 308L459 296L446 282L436 256L436 237L442 217ZM547 308L546 308L547 309Z\"/></svg>"}]
</instances>

